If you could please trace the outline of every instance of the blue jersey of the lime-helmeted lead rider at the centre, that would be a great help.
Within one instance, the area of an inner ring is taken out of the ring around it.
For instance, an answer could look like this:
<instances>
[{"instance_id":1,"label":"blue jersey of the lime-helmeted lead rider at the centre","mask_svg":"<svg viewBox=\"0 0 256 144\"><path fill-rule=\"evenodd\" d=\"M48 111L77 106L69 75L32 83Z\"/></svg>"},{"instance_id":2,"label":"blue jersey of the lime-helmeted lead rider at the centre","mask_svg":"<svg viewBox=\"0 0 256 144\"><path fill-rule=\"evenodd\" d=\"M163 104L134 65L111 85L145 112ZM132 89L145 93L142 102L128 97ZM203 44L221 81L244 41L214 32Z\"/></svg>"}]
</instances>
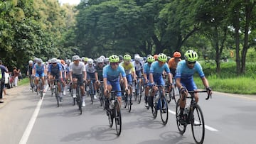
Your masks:
<instances>
[{"instance_id":1,"label":"blue jersey of the lime-helmeted lead rider at the centre","mask_svg":"<svg viewBox=\"0 0 256 144\"><path fill-rule=\"evenodd\" d=\"M103 68L103 78L107 78L110 82L116 82L119 80L119 74L122 74L122 77L126 77L124 72L124 68L122 66L118 66L117 70L113 70L111 65L106 65Z\"/></svg>"}]
</instances>

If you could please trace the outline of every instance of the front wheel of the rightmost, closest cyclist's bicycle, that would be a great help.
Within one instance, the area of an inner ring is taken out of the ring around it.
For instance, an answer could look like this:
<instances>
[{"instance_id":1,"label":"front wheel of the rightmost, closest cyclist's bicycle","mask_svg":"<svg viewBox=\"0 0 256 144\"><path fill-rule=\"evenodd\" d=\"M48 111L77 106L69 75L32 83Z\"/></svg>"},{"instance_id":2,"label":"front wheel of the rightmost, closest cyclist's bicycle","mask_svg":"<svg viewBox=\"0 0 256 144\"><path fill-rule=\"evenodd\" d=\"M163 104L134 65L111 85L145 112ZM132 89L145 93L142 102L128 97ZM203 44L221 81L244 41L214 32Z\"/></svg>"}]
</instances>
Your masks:
<instances>
[{"instance_id":1,"label":"front wheel of the rightmost, closest cyclist's bicycle","mask_svg":"<svg viewBox=\"0 0 256 144\"><path fill-rule=\"evenodd\" d=\"M198 104L196 104L196 106L193 108L193 114L191 116L191 128L193 138L196 143L203 143L205 135L205 125L203 120L203 112Z\"/></svg>"}]
</instances>

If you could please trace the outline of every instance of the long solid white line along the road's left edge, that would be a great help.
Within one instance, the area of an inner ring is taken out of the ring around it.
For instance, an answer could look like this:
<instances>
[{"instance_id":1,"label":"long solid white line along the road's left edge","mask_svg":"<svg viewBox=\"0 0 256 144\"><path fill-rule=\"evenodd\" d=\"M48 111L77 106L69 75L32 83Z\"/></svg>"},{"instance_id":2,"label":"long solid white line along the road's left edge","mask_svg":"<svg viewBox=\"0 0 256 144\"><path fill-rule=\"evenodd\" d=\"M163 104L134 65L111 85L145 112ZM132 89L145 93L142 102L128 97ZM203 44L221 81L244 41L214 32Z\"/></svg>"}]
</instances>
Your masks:
<instances>
[{"instance_id":1,"label":"long solid white line along the road's left edge","mask_svg":"<svg viewBox=\"0 0 256 144\"><path fill-rule=\"evenodd\" d=\"M46 89L48 89L48 84L46 86ZM40 111L40 108L41 108L41 105L42 105L42 102L43 102L43 98L44 96L46 95L46 93L43 93L43 97L42 99L39 99L38 101L38 104L36 105L36 109L35 111L33 112L33 115L28 123L28 126L26 127L26 130L24 131L23 135L22 135L22 138L21 140L19 141L18 144L26 144L27 141L28 141L28 137L29 135L31 134L31 131L32 131L32 128L33 128L33 125L35 124L36 122L36 118L38 116L38 113Z\"/></svg>"}]
</instances>

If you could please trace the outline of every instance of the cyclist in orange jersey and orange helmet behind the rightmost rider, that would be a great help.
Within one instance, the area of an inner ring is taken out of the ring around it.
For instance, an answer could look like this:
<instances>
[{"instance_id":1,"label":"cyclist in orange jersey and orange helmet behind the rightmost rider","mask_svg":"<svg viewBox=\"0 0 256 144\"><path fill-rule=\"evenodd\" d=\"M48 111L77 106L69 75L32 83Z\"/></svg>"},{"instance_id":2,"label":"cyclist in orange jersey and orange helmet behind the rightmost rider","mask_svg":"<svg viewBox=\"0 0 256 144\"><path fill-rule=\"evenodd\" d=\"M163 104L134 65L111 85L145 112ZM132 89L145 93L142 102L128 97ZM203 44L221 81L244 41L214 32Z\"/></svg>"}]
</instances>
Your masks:
<instances>
[{"instance_id":1,"label":"cyclist in orange jersey and orange helmet behind the rightmost rider","mask_svg":"<svg viewBox=\"0 0 256 144\"><path fill-rule=\"evenodd\" d=\"M169 69L171 71L171 74L173 74L173 77L176 76L176 67L178 62L181 61L181 52L174 52L174 57L171 57L171 59L168 62Z\"/></svg>"}]
</instances>

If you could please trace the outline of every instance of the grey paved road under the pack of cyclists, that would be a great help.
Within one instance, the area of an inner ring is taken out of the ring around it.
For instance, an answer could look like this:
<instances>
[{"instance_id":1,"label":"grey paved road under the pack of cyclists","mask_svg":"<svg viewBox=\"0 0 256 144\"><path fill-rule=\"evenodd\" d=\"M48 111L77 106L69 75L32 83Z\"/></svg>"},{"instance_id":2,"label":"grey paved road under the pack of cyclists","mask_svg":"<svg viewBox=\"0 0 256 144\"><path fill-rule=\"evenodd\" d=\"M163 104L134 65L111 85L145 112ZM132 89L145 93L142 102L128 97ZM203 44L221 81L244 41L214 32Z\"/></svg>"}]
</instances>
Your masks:
<instances>
[{"instance_id":1,"label":"grey paved road under the pack of cyclists","mask_svg":"<svg viewBox=\"0 0 256 144\"><path fill-rule=\"evenodd\" d=\"M206 95L200 96L206 122L204 143L255 143L256 97L215 92L206 101ZM122 109L119 137L108 126L99 101L92 105L87 97L82 115L72 103L65 96L57 107L49 91L41 101L28 88L23 89L0 109L0 143L194 143L190 126L183 135L178 133L173 101L166 126L144 104L134 104L131 113Z\"/></svg>"}]
</instances>

